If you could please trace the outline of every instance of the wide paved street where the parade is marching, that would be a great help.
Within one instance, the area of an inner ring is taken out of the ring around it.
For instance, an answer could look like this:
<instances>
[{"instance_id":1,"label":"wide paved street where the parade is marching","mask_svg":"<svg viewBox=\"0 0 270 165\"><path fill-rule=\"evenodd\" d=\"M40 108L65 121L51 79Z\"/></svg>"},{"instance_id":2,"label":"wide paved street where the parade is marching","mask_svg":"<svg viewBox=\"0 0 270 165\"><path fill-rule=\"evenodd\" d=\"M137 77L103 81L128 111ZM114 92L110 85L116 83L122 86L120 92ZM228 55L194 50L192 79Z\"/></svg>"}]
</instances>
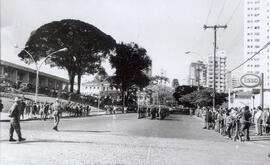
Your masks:
<instances>
[{"instance_id":1,"label":"wide paved street where the parade is marching","mask_svg":"<svg viewBox=\"0 0 270 165\"><path fill-rule=\"evenodd\" d=\"M27 140L11 143L9 123L1 122L1 164L269 163L269 145L227 140L187 115L165 120L137 119L136 114L69 118L60 121L59 132L52 125L52 120L21 122Z\"/></svg>"}]
</instances>

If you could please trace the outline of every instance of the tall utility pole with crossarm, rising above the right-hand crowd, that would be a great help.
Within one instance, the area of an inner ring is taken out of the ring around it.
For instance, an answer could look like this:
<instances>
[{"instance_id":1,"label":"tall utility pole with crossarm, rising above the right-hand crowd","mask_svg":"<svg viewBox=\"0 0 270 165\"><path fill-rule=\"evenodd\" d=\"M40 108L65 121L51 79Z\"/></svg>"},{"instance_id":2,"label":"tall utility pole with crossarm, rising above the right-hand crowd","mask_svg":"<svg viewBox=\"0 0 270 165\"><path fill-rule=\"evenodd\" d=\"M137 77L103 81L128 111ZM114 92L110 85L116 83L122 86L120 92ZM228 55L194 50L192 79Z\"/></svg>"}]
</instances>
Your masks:
<instances>
[{"instance_id":1,"label":"tall utility pole with crossarm, rising above the right-hand crowd","mask_svg":"<svg viewBox=\"0 0 270 165\"><path fill-rule=\"evenodd\" d=\"M206 29L213 29L214 30L214 91L213 91L213 110L216 108L216 50L217 50L217 29L223 28L226 29L227 25L214 25L214 26L207 26L204 25L203 28Z\"/></svg>"}]
</instances>

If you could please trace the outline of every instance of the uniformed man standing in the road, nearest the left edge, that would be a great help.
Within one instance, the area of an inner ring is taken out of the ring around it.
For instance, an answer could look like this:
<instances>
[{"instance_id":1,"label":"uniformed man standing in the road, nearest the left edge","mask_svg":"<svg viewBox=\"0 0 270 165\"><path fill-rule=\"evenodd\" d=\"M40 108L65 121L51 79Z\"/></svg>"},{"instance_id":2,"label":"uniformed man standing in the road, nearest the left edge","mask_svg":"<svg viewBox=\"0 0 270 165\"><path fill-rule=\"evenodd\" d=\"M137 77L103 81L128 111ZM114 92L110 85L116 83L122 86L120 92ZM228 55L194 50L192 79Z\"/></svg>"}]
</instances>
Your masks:
<instances>
[{"instance_id":1,"label":"uniformed man standing in the road, nearest the left edge","mask_svg":"<svg viewBox=\"0 0 270 165\"><path fill-rule=\"evenodd\" d=\"M20 115L21 115L21 103L18 97L15 98L15 102L9 110L10 117L10 129L9 129L9 141L16 141L13 139L14 129L18 135L19 141L24 141L25 138L22 138L21 127L20 127Z\"/></svg>"}]
</instances>

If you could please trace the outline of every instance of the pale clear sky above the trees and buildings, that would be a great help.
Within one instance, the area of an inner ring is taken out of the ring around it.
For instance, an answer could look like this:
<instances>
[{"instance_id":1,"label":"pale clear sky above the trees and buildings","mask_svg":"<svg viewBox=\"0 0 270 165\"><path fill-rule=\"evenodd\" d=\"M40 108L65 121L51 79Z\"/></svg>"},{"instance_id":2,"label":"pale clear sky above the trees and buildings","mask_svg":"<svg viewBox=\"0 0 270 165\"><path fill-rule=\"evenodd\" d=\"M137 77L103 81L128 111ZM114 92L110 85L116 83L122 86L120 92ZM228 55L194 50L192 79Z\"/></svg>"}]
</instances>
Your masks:
<instances>
[{"instance_id":1,"label":"pale clear sky above the trees and buildings","mask_svg":"<svg viewBox=\"0 0 270 165\"><path fill-rule=\"evenodd\" d=\"M187 80L189 64L213 55L214 32L203 25L227 24L218 30L218 49L225 50L228 69L243 61L244 0L1 0L1 59L25 65L17 57L31 31L61 19L90 23L117 42L144 47L153 75L164 70L171 80ZM194 53L185 54L186 51ZM104 64L113 73L108 63ZM34 65L30 65L34 68ZM41 71L68 78L65 70ZM235 75L241 74L241 68ZM83 81L92 77L84 76Z\"/></svg>"}]
</instances>

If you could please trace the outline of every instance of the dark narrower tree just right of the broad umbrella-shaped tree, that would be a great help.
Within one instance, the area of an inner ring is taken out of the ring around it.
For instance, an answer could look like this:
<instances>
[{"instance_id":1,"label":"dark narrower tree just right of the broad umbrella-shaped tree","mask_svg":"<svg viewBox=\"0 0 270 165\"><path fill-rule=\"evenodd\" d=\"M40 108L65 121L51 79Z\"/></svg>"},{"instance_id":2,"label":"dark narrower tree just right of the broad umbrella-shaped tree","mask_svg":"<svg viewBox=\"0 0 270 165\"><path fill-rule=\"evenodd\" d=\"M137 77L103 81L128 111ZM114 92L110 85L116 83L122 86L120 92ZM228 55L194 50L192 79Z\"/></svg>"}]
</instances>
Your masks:
<instances>
[{"instance_id":1,"label":"dark narrower tree just right of the broad umbrella-shaped tree","mask_svg":"<svg viewBox=\"0 0 270 165\"><path fill-rule=\"evenodd\" d=\"M115 68L111 82L121 90L125 105L125 93L128 89L134 86L144 88L149 84L150 78L145 71L150 69L152 61L147 51L137 44L120 43L116 46L116 53L111 55L110 63Z\"/></svg>"}]
</instances>

